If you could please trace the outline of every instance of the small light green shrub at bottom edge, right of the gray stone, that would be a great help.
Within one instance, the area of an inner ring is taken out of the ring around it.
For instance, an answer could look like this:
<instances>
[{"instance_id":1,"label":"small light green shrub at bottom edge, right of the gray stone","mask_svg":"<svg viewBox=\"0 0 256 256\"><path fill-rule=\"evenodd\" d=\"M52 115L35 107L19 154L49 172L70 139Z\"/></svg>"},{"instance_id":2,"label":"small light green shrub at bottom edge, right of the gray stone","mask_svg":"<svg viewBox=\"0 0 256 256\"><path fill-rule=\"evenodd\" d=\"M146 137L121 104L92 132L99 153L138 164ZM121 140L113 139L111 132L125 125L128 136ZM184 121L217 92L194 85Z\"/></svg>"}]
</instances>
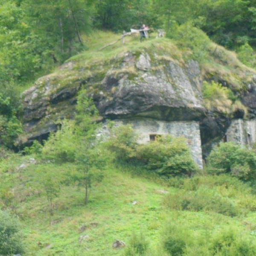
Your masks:
<instances>
[{"instance_id":1,"label":"small light green shrub at bottom edge, right of the gray stone","mask_svg":"<svg viewBox=\"0 0 256 256\"><path fill-rule=\"evenodd\" d=\"M125 256L143 256L148 252L148 241L141 232L140 235L133 233L125 250Z\"/></svg>"}]
</instances>

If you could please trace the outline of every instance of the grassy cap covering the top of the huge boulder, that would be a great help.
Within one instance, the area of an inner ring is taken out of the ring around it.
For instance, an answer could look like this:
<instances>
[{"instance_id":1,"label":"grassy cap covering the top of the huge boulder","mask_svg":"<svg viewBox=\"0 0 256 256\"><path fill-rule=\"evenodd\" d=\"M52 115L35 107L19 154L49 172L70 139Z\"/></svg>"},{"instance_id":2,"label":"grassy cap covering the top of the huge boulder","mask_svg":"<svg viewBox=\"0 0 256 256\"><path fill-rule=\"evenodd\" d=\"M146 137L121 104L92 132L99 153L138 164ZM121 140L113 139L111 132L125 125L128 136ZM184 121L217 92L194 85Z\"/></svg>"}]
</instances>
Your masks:
<instances>
[{"instance_id":1,"label":"grassy cap covering the top of the huge boulder","mask_svg":"<svg viewBox=\"0 0 256 256\"><path fill-rule=\"evenodd\" d=\"M243 81L252 79L252 69L242 64L234 52L214 44L204 32L188 24L177 27L172 36L169 36L171 39L155 38L153 34L148 40L140 42L137 35L132 35L125 37L125 44L122 44L122 40L117 41L121 36L102 31L96 31L90 36L84 35L87 49L55 69L50 76L53 84L65 86L89 77L93 77L93 83L97 84L113 66L117 72L122 70L120 64L128 52L133 53L135 57L147 52L151 58L152 72L159 68L163 61L172 60L183 66L184 60L195 59L199 61L204 75L209 79L212 76L224 78L232 90L242 90ZM115 41L116 44L101 49ZM136 74L132 69L125 72L131 72L133 76ZM99 80L96 81L96 78Z\"/></svg>"}]
</instances>

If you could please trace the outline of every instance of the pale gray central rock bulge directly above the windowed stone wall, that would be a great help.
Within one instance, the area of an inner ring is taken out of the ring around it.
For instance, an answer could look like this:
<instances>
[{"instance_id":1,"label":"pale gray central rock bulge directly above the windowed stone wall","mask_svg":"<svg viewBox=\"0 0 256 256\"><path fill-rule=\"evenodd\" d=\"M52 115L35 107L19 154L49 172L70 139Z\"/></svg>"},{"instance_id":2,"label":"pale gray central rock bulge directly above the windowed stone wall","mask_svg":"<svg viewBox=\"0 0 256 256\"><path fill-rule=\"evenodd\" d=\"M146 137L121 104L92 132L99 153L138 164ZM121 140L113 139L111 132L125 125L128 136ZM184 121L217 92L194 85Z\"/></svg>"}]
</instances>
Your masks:
<instances>
[{"instance_id":1,"label":"pale gray central rock bulge directly above the windowed stone wall","mask_svg":"<svg viewBox=\"0 0 256 256\"><path fill-rule=\"evenodd\" d=\"M145 56L148 55L140 55L136 63L139 70L132 80L127 75L116 79L115 74L107 74L102 87L105 90L115 87L116 91L111 100L99 99L100 112L112 119L144 116L171 121L204 116L198 63L191 61L187 67L180 67L168 61L163 68L152 71L149 56Z\"/></svg>"}]
</instances>

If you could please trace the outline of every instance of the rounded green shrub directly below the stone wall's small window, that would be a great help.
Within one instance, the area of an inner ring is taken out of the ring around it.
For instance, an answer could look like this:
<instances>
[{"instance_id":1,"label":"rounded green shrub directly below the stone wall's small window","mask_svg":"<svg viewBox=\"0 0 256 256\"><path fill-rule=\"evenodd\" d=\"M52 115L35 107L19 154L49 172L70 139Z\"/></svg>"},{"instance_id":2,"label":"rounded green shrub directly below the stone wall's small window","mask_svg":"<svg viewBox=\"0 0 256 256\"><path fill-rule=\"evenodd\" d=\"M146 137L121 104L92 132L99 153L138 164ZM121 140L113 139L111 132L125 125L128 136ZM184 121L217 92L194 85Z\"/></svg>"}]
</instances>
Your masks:
<instances>
[{"instance_id":1,"label":"rounded green shrub directly below the stone wall's small window","mask_svg":"<svg viewBox=\"0 0 256 256\"><path fill-rule=\"evenodd\" d=\"M143 163L148 170L167 177L191 176L197 171L186 139L182 137L167 135L154 142L138 145L136 160Z\"/></svg>"}]
</instances>

